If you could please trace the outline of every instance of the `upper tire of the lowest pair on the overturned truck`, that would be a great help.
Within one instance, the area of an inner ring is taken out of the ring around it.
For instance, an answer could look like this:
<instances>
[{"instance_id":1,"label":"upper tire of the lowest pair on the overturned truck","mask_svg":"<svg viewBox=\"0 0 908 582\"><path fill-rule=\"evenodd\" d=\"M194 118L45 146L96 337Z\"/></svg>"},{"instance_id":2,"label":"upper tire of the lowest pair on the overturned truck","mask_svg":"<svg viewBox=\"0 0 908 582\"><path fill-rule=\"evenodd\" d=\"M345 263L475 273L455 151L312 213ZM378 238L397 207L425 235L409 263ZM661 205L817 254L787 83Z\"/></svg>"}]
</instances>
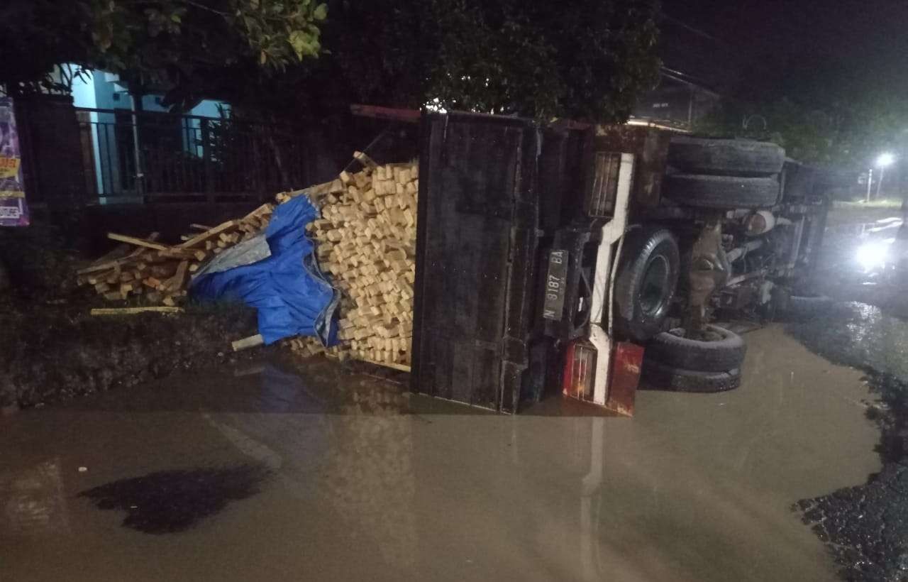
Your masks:
<instances>
[{"instance_id":1,"label":"upper tire of the lowest pair on the overturned truck","mask_svg":"<svg viewBox=\"0 0 908 582\"><path fill-rule=\"evenodd\" d=\"M707 325L706 331L708 340L679 335L684 330L663 331L646 344L645 357L685 370L721 372L741 368L747 350L744 339L717 325Z\"/></svg>"}]
</instances>

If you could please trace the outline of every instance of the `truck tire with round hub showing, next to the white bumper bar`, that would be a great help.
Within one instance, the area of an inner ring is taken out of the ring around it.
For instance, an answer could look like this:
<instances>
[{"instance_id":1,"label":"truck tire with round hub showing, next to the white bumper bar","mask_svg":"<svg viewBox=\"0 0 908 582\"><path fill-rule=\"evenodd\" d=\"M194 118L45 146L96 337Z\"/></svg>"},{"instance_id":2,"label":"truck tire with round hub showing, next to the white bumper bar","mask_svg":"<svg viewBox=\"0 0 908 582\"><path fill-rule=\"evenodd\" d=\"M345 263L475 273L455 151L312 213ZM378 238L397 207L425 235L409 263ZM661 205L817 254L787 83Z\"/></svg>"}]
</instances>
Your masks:
<instances>
[{"instance_id":1,"label":"truck tire with round hub showing, next to the white bumper bar","mask_svg":"<svg viewBox=\"0 0 908 582\"><path fill-rule=\"evenodd\" d=\"M615 281L615 328L644 342L662 330L678 281L678 243L666 229L627 234Z\"/></svg>"}]
</instances>

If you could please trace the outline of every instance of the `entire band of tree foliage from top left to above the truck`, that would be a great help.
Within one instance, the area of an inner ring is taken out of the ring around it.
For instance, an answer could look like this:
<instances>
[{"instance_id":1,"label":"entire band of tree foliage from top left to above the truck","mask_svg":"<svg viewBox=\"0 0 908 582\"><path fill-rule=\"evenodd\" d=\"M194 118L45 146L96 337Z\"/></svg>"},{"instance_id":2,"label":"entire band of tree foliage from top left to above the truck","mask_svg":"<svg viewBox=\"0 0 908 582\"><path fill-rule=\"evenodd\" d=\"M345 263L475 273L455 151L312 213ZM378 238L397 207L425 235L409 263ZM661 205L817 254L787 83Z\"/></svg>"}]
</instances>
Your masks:
<instances>
[{"instance_id":1,"label":"entire band of tree foliage from top left to above the truck","mask_svg":"<svg viewBox=\"0 0 908 582\"><path fill-rule=\"evenodd\" d=\"M177 104L321 117L431 102L618 122L657 80L656 0L326 1L10 0L0 50L20 56L0 82L70 62Z\"/></svg>"}]
</instances>

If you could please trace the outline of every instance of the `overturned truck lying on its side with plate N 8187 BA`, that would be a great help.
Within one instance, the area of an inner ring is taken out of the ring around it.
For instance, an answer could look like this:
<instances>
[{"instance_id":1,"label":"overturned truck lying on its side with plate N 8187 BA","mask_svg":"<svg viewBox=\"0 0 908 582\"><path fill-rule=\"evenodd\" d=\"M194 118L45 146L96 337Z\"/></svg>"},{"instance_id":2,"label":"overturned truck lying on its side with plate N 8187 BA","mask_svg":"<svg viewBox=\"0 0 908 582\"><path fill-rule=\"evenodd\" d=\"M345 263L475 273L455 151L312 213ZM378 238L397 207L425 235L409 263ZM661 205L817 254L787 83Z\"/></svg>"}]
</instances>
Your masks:
<instances>
[{"instance_id":1,"label":"overturned truck lying on its side with plate N 8187 BA","mask_svg":"<svg viewBox=\"0 0 908 582\"><path fill-rule=\"evenodd\" d=\"M631 413L641 369L660 389L739 385L745 342L716 321L812 301L828 202L773 143L419 123L415 391L517 412L561 390Z\"/></svg>"}]
</instances>

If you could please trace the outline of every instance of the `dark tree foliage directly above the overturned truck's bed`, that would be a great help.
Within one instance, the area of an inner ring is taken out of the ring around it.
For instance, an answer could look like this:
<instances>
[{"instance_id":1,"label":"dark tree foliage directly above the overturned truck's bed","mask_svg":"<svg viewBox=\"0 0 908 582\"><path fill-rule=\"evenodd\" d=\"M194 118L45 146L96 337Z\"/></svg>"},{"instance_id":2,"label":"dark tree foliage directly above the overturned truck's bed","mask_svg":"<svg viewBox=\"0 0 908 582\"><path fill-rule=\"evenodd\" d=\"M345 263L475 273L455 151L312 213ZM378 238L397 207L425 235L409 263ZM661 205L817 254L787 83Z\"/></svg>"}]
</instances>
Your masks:
<instances>
[{"instance_id":1,"label":"dark tree foliage directly above the overturned truck's bed","mask_svg":"<svg viewBox=\"0 0 908 582\"><path fill-rule=\"evenodd\" d=\"M332 0L330 12L326 61L366 103L614 122L658 74L652 0Z\"/></svg>"}]
</instances>

